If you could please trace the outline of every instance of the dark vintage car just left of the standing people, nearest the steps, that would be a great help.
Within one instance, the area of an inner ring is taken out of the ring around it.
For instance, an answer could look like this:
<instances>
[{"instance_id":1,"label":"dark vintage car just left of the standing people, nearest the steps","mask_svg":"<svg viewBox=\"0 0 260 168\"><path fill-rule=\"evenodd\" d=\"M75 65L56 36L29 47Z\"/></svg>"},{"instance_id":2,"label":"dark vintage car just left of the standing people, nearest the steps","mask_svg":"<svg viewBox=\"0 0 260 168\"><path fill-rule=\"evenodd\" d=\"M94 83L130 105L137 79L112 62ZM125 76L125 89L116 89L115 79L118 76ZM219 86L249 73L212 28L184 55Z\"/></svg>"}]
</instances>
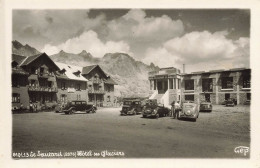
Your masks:
<instances>
[{"instance_id":1,"label":"dark vintage car just left of the standing people, nearest the steps","mask_svg":"<svg viewBox=\"0 0 260 168\"><path fill-rule=\"evenodd\" d=\"M167 107L164 107L164 105L157 104L156 99L150 99L149 101L146 101L145 106L143 107L143 118L146 117L164 117L168 116L170 113L170 110Z\"/></svg>"}]
</instances>

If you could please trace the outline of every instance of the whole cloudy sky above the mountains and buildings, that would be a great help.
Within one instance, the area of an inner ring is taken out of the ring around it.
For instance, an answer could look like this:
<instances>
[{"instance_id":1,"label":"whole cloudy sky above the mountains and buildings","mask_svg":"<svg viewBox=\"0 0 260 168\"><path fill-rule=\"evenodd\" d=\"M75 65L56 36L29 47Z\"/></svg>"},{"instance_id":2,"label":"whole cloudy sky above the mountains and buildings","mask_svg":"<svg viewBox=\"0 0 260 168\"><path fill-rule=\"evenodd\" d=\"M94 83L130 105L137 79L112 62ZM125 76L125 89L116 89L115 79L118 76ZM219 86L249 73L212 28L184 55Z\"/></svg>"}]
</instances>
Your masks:
<instances>
[{"instance_id":1,"label":"whole cloudy sky above the mountains and buildings","mask_svg":"<svg viewBox=\"0 0 260 168\"><path fill-rule=\"evenodd\" d=\"M13 40L49 55L124 52L186 72L249 67L249 39L249 10L13 10Z\"/></svg>"}]
</instances>

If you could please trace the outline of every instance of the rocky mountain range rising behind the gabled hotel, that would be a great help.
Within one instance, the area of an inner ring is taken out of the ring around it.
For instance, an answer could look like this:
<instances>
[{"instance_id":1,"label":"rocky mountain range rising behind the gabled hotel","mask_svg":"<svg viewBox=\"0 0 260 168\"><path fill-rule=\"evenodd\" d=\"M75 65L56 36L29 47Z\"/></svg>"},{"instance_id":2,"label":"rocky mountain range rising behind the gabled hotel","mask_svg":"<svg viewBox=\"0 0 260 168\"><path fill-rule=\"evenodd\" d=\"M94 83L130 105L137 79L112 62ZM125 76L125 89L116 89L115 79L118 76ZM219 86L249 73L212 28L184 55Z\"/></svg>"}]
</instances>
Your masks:
<instances>
[{"instance_id":1,"label":"rocky mountain range rising behind the gabled hotel","mask_svg":"<svg viewBox=\"0 0 260 168\"><path fill-rule=\"evenodd\" d=\"M18 41L12 42L12 52L18 55L32 56L40 52ZM149 95L148 72L158 70L153 63L150 65L137 61L126 53L107 53L102 58L96 58L83 50L78 54L67 53L61 50L50 55L56 62L70 65L88 66L98 64L118 83L115 85L115 95L118 97L146 97Z\"/></svg>"}]
</instances>

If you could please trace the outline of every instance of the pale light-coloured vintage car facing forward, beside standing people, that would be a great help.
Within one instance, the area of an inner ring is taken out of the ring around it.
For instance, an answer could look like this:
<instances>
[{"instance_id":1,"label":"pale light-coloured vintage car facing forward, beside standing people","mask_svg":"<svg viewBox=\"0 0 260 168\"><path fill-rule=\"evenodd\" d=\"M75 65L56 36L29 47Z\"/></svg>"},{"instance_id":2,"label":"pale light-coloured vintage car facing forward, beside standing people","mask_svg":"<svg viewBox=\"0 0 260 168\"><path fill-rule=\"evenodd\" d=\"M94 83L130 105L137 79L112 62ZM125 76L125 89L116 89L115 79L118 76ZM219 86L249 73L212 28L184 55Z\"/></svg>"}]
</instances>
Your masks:
<instances>
[{"instance_id":1,"label":"pale light-coloured vintage car facing forward, beside standing people","mask_svg":"<svg viewBox=\"0 0 260 168\"><path fill-rule=\"evenodd\" d=\"M199 118L199 105L194 102L183 102L181 110L177 112L177 119L189 118L196 121Z\"/></svg>"}]
</instances>

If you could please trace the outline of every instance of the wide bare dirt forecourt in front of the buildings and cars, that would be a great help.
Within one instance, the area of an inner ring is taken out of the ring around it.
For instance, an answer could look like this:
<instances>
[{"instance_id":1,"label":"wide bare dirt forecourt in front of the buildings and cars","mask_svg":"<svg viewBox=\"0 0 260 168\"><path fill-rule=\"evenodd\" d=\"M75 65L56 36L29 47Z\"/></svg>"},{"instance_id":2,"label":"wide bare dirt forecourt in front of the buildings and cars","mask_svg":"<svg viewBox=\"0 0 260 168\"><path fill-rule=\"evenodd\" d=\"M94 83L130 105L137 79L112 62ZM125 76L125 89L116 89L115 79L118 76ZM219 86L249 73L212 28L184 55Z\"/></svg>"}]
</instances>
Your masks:
<instances>
[{"instance_id":1,"label":"wide bare dirt forecourt in front of the buildings and cars","mask_svg":"<svg viewBox=\"0 0 260 168\"><path fill-rule=\"evenodd\" d=\"M13 114L13 152L119 151L126 158L249 158L250 107L213 106L197 122L120 116L120 108L74 115Z\"/></svg>"}]
</instances>

